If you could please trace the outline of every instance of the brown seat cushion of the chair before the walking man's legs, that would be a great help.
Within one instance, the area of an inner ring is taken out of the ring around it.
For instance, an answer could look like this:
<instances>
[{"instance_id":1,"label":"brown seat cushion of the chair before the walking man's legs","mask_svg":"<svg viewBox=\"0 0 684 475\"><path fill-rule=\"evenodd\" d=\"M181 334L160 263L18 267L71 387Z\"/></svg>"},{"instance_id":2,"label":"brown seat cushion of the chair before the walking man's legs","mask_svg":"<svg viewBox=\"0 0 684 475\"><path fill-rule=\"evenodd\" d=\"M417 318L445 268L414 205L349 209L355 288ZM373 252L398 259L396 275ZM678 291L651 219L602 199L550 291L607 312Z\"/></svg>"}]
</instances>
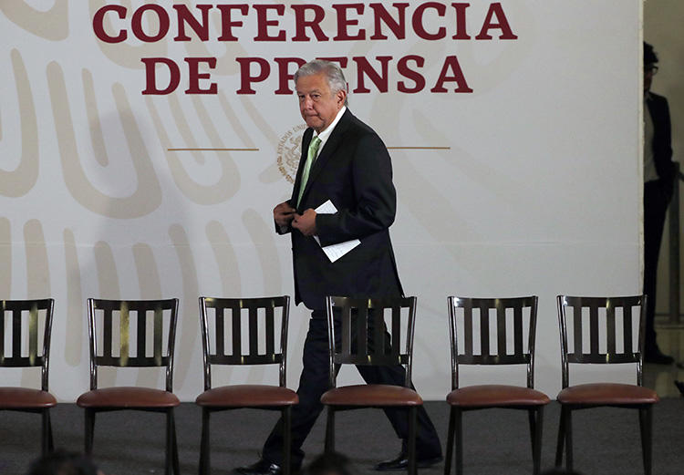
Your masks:
<instances>
[{"instance_id":1,"label":"brown seat cushion of the chair before the walking man's legs","mask_svg":"<svg viewBox=\"0 0 684 475\"><path fill-rule=\"evenodd\" d=\"M334 387L321 397L329 406L420 406L422 398L410 387L356 385Z\"/></svg>"}]
</instances>

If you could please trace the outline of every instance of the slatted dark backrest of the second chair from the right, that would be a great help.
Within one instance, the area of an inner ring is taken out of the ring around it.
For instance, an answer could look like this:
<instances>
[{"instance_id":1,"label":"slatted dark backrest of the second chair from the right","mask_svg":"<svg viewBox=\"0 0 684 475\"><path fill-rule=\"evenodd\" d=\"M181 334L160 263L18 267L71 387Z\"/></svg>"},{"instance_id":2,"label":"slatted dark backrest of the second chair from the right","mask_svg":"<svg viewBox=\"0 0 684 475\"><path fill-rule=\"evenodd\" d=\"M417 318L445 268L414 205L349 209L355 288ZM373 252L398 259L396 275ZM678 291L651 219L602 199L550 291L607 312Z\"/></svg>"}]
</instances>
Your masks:
<instances>
[{"instance_id":1,"label":"slatted dark backrest of the second chair from the right","mask_svg":"<svg viewBox=\"0 0 684 475\"><path fill-rule=\"evenodd\" d=\"M537 301L536 295L447 298L452 389L459 387L459 365L526 365L527 387L534 387ZM477 342L479 351L476 351Z\"/></svg>"}]
</instances>

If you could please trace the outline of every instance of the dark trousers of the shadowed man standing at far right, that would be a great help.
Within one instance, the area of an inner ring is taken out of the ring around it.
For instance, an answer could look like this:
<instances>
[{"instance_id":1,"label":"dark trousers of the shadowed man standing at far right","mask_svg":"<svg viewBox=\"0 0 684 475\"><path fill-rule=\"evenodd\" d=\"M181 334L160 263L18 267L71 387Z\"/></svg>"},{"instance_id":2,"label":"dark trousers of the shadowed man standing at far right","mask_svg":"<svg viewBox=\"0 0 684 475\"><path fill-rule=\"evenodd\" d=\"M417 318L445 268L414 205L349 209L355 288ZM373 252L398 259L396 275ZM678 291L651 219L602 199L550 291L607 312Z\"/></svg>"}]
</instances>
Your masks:
<instances>
[{"instance_id":1,"label":"dark trousers of the shadowed man standing at far right","mask_svg":"<svg viewBox=\"0 0 684 475\"><path fill-rule=\"evenodd\" d=\"M656 345L656 278L658 254L663 238L665 216L672 198L672 185L666 180L644 183L644 294L648 295L646 306L645 351L654 351Z\"/></svg>"}]
</instances>

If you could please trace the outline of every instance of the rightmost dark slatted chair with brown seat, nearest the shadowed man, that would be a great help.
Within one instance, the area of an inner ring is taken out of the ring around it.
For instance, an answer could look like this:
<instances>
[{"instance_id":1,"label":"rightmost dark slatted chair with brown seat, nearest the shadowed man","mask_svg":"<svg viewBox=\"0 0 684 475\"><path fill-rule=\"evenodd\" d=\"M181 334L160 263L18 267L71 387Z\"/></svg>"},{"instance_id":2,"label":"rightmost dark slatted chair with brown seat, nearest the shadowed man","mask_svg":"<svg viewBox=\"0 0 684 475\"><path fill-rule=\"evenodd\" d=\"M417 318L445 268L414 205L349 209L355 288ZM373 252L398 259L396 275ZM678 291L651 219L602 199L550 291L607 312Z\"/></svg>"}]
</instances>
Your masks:
<instances>
[{"instance_id":1,"label":"rightmost dark slatted chair with brown seat, nearest the shadowed man","mask_svg":"<svg viewBox=\"0 0 684 475\"><path fill-rule=\"evenodd\" d=\"M639 412L644 472L650 475L651 409L658 402L658 395L648 387L642 387L646 300L646 295L627 297L558 295L563 389L557 397L561 404L561 422L555 452L556 467L560 467L563 461L565 439L565 467L568 470L573 468L571 418L573 410L602 406L635 408ZM568 307L573 307L572 325L567 325ZM638 312L635 311L636 307L638 307ZM569 338L572 338L571 346L568 346ZM583 343L588 343L588 347ZM570 386L570 363L632 363L637 367L637 384L589 383Z\"/></svg>"}]
</instances>

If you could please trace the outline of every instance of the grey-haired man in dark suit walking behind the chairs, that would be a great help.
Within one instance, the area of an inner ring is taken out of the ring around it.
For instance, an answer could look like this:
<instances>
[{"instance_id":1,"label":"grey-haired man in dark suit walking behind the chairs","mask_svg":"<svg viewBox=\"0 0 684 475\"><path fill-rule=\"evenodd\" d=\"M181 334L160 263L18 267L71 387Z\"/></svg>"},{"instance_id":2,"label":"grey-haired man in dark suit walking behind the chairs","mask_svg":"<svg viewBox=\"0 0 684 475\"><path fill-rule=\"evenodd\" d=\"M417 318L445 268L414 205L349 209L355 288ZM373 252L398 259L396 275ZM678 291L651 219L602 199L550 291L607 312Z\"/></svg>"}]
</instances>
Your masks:
<instances>
[{"instance_id":1,"label":"grey-haired man in dark suit walking behind the chairs","mask_svg":"<svg viewBox=\"0 0 684 475\"><path fill-rule=\"evenodd\" d=\"M297 389L299 404L292 413L292 465L296 470L304 458L302 443L323 409L320 397L329 387L326 295L380 297L403 292L389 240L396 192L385 144L347 109L347 81L335 64L307 63L295 73L295 88L308 129L302 139L292 198L275 206L274 220L276 232L292 237L295 303L303 302L312 310ZM316 213L328 200L337 212ZM321 246L355 239L360 244L335 262L321 250ZM368 383L402 385L405 377L400 366L358 370ZM378 463L376 470L405 470L408 413L401 409L385 412L404 443L396 459ZM418 423L418 464L428 467L441 460L440 440L423 408ZM282 448L279 421L264 444L262 459L236 471L277 475Z\"/></svg>"}]
</instances>

